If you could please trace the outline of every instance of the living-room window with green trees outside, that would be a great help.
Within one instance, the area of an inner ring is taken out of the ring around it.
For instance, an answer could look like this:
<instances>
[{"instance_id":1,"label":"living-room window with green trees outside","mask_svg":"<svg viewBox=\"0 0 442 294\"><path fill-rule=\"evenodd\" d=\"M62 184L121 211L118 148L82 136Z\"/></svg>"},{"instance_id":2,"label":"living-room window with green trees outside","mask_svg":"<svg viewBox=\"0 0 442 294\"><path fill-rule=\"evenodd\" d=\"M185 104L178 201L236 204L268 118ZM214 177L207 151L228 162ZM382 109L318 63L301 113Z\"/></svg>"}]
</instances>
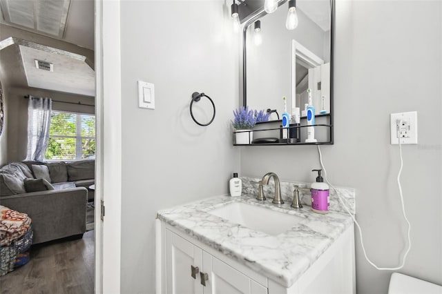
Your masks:
<instances>
[{"instance_id":1,"label":"living-room window with green trees outside","mask_svg":"<svg viewBox=\"0 0 442 294\"><path fill-rule=\"evenodd\" d=\"M45 159L84 159L95 155L95 115L52 111Z\"/></svg>"}]
</instances>

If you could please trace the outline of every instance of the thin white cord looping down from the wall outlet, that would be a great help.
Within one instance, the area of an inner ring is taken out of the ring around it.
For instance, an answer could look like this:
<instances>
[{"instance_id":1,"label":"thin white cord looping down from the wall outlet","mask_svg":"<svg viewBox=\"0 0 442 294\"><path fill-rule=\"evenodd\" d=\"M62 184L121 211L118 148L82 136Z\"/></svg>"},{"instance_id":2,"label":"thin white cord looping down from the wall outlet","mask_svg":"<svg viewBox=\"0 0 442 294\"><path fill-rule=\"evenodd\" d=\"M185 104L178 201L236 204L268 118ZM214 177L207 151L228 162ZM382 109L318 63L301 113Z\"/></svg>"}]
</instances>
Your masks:
<instances>
[{"instance_id":1,"label":"thin white cord looping down from the wall outlet","mask_svg":"<svg viewBox=\"0 0 442 294\"><path fill-rule=\"evenodd\" d=\"M407 258L408 253L410 252L410 249L412 247L412 242L410 240L410 222L407 219L407 215L405 215L405 206L403 204L403 195L402 195L402 188L401 188L401 181L400 181L400 177L401 177L401 173L402 173L402 168L403 168L403 159L402 159L402 147L401 147L401 140L399 139L399 154L401 155L401 168L399 168L399 173L398 173L398 177L397 177L397 181L398 181L398 187L399 187L399 195L401 195L401 204L402 204L402 212L403 212L403 217L405 218L405 221L407 222L408 225L408 248L407 251L405 252L405 254L403 255L403 260L402 260L402 264L401 266L397 266L394 268L381 268L376 266L376 264L374 264L367 256L367 252L365 251L365 246L364 246L364 242L363 242L363 237L362 237L362 230L361 230L361 226L359 226L358 222L356 221L356 218L354 217L354 215L352 215L352 213L350 213L349 208L347 208L347 206L345 205L345 203L343 202L342 197L340 196L340 193L338 192L338 190L336 190L336 188L330 184L329 180L327 179L327 170L325 170L325 166L323 164L323 155L320 152L320 148L318 145L318 153L319 153L319 161L320 161L320 166L323 168L324 170L324 178L325 178L325 182L327 182L327 184L329 184L330 187L333 188L333 190L335 191L336 195L338 195L338 199L340 200L340 203L343 204L345 210L347 210L347 213L352 217L354 223L356 224L356 227L358 228L359 231L359 238L361 239L361 246L362 246L362 250L364 252L364 256L365 259L367 259L367 262L369 262L369 264L371 264L372 266L374 266L375 268L377 268L380 271L396 271L398 269L403 268L404 264L405 264L405 259Z\"/></svg>"}]
</instances>

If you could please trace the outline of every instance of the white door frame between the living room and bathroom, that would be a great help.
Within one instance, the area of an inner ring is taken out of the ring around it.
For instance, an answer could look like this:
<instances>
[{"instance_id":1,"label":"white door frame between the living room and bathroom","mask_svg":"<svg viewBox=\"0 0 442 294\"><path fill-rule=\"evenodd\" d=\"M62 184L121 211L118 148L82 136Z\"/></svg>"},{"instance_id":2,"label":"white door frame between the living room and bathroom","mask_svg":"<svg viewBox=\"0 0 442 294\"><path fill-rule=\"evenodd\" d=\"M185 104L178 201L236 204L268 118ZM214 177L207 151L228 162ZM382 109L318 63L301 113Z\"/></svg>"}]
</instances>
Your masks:
<instances>
[{"instance_id":1,"label":"white door frame between the living room and bathroom","mask_svg":"<svg viewBox=\"0 0 442 294\"><path fill-rule=\"evenodd\" d=\"M122 114L119 0L95 0L95 293L121 284ZM106 99L104 99L106 97ZM106 222L101 219L104 203Z\"/></svg>"}]
</instances>

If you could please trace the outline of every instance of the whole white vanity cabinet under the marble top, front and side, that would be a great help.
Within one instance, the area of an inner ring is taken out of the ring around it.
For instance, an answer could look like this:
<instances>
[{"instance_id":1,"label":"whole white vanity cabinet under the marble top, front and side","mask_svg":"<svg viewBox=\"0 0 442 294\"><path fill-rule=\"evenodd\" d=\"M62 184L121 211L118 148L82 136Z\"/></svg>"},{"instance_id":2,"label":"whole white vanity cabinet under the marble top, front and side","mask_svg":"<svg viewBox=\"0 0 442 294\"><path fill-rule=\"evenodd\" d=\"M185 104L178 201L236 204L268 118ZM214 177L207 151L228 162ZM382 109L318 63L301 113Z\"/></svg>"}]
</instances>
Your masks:
<instances>
[{"instance_id":1,"label":"whole white vanity cabinet under the marble top, front and side","mask_svg":"<svg viewBox=\"0 0 442 294\"><path fill-rule=\"evenodd\" d=\"M347 228L294 284L285 287L275 282L274 277L253 271L177 228L159 219L156 222L157 294L356 293L353 226Z\"/></svg>"}]
</instances>

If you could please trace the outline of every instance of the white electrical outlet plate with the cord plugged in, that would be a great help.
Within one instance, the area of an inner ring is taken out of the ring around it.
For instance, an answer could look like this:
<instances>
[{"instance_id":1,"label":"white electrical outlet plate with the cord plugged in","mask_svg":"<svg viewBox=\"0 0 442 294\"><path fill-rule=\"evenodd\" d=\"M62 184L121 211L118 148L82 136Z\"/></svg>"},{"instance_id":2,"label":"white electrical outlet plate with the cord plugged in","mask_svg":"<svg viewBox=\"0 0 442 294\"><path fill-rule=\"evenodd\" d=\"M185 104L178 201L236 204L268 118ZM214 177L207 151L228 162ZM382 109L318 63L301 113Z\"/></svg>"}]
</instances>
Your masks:
<instances>
[{"instance_id":1,"label":"white electrical outlet plate with the cord plugged in","mask_svg":"<svg viewBox=\"0 0 442 294\"><path fill-rule=\"evenodd\" d=\"M417 112L390 114L391 144L417 144Z\"/></svg>"}]
</instances>

